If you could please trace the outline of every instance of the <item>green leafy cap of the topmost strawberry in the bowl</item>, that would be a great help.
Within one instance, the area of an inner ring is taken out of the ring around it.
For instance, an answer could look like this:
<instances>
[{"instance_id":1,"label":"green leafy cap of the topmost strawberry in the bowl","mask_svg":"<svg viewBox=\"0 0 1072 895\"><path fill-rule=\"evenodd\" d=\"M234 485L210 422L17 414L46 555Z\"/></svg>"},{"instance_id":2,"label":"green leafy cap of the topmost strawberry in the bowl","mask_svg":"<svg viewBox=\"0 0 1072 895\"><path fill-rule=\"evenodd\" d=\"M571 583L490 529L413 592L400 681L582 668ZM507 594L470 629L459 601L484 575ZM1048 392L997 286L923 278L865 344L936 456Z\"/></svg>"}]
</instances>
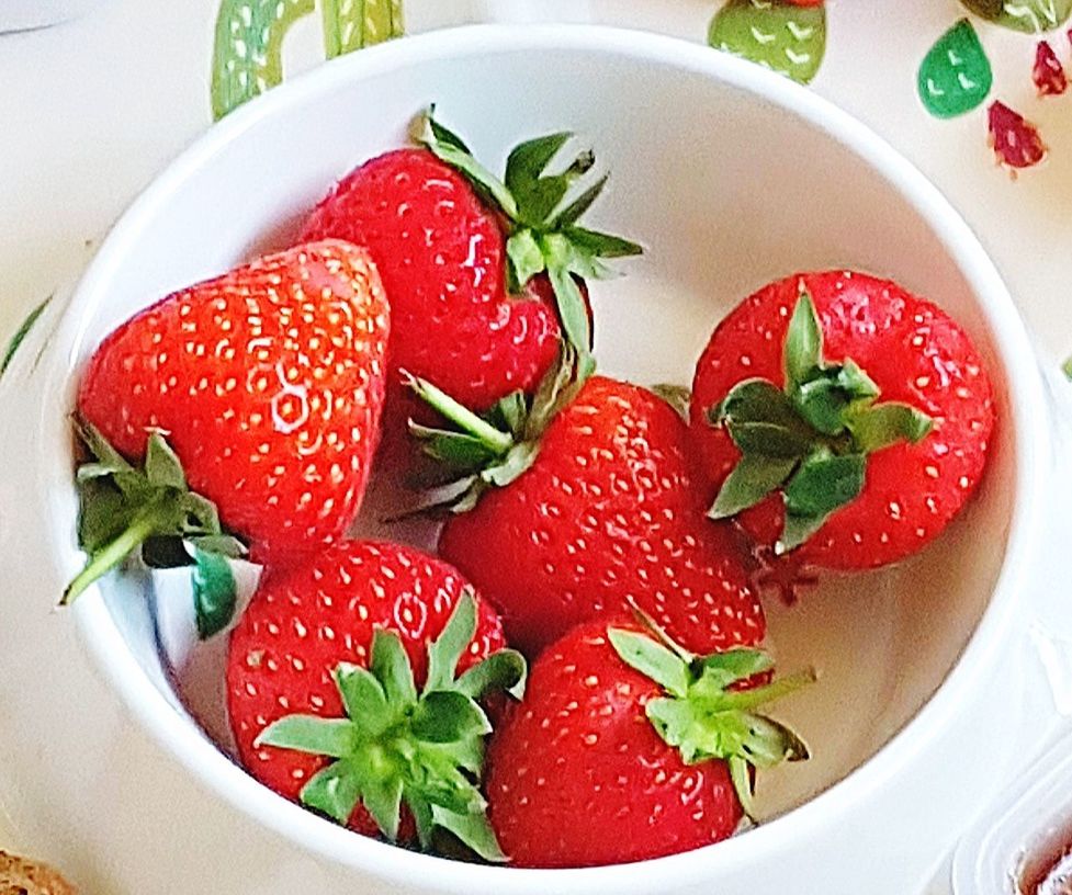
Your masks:
<instances>
[{"instance_id":1,"label":"green leafy cap of the topmost strawberry in the bowl","mask_svg":"<svg viewBox=\"0 0 1072 895\"><path fill-rule=\"evenodd\" d=\"M566 340L583 370L594 366L588 307L576 277L611 276L607 259L640 254L643 249L619 236L586 229L578 220L599 197L608 174L596 174L596 158L585 150L549 173L573 134L563 132L527 140L514 148L499 180L481 165L461 138L435 118L435 106L417 124L417 141L456 168L507 222L507 273L510 291L520 293L546 272L558 305Z\"/></svg>"}]
</instances>

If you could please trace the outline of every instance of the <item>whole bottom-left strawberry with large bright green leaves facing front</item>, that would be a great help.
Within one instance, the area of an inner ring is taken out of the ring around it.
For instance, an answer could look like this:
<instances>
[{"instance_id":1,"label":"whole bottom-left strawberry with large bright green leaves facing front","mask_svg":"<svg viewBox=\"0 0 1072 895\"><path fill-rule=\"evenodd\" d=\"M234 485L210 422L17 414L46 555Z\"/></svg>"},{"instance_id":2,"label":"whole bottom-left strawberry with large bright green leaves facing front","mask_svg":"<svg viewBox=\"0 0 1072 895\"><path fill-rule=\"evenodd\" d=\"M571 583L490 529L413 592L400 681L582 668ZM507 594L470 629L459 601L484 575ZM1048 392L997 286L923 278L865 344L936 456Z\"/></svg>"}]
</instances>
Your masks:
<instances>
[{"instance_id":1,"label":"whole bottom-left strawberry with large bright green leaves facing front","mask_svg":"<svg viewBox=\"0 0 1072 895\"><path fill-rule=\"evenodd\" d=\"M498 616L462 576L411 547L342 541L269 569L227 655L238 757L358 832L427 846L441 827L498 859L477 790L490 725L476 700L524 673L503 646Z\"/></svg>"}]
</instances>

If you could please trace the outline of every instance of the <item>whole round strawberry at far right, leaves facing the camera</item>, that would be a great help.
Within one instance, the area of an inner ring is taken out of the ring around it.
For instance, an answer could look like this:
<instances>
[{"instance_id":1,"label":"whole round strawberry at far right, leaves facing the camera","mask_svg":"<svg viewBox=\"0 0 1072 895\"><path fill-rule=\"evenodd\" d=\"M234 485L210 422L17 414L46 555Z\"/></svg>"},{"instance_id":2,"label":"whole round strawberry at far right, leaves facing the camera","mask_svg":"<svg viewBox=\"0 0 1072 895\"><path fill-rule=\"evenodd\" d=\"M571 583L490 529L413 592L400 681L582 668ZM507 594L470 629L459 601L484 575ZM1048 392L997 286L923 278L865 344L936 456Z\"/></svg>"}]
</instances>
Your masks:
<instances>
[{"instance_id":1,"label":"whole round strawberry at far right, leaves facing the camera","mask_svg":"<svg viewBox=\"0 0 1072 895\"><path fill-rule=\"evenodd\" d=\"M879 403L881 396L881 403ZM933 541L982 476L993 390L964 331L884 280L787 277L738 305L696 370L711 514L794 562L862 569Z\"/></svg>"}]
</instances>

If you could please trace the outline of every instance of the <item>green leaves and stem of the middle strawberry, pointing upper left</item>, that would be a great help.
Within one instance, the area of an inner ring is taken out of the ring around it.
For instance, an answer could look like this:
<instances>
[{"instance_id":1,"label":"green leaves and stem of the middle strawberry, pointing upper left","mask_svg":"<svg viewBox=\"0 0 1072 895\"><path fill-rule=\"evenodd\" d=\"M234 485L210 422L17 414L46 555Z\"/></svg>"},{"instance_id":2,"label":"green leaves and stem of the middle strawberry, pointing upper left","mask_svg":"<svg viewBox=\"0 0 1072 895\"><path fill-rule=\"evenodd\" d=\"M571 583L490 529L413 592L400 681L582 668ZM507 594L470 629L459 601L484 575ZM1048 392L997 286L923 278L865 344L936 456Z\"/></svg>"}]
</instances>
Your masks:
<instances>
[{"instance_id":1,"label":"green leaves and stem of the middle strawberry, pointing upper left","mask_svg":"<svg viewBox=\"0 0 1072 895\"><path fill-rule=\"evenodd\" d=\"M445 484L424 492L416 511L449 507L455 513L467 512L488 488L505 487L528 469L540 452L544 429L584 385L582 363L573 347L563 344L557 362L531 398L514 392L483 415L403 371L414 394L453 426L442 429L409 421L410 434L448 474Z\"/></svg>"}]
</instances>

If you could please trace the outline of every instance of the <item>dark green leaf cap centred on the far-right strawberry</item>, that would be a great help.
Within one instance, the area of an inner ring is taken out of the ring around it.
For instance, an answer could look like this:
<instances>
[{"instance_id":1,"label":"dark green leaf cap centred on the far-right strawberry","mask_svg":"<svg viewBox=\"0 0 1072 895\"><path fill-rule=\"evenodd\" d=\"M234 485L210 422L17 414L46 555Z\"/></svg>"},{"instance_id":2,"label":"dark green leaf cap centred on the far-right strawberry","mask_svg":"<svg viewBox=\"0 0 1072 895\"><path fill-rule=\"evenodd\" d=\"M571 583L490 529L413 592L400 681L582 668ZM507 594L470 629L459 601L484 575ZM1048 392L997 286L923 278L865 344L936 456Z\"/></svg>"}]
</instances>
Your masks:
<instances>
[{"instance_id":1,"label":"dark green leaf cap centred on the far-right strawberry","mask_svg":"<svg viewBox=\"0 0 1072 895\"><path fill-rule=\"evenodd\" d=\"M868 454L902 441L915 444L934 428L914 407L878 404L878 386L850 359L838 364L823 359L819 316L803 281L783 364L783 389L746 379L708 412L741 450L710 516L736 516L780 490L786 524L775 545L779 554L800 546L859 496Z\"/></svg>"}]
</instances>

